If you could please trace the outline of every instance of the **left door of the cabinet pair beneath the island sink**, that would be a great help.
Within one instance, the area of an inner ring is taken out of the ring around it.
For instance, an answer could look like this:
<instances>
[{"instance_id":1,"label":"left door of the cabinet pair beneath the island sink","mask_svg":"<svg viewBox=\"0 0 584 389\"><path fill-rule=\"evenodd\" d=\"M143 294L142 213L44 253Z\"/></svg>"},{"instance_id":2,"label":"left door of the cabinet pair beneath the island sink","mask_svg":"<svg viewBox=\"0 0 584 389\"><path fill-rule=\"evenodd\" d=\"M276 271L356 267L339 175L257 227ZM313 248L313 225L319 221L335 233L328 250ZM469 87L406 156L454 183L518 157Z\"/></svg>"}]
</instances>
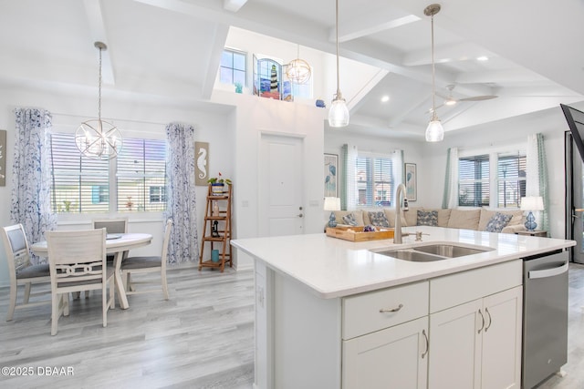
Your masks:
<instances>
[{"instance_id":1,"label":"left door of the cabinet pair beneath the island sink","mask_svg":"<svg viewBox=\"0 0 584 389\"><path fill-rule=\"evenodd\" d=\"M483 299L430 315L428 387L479 387ZM481 333L478 331L481 330Z\"/></svg>"}]
</instances>

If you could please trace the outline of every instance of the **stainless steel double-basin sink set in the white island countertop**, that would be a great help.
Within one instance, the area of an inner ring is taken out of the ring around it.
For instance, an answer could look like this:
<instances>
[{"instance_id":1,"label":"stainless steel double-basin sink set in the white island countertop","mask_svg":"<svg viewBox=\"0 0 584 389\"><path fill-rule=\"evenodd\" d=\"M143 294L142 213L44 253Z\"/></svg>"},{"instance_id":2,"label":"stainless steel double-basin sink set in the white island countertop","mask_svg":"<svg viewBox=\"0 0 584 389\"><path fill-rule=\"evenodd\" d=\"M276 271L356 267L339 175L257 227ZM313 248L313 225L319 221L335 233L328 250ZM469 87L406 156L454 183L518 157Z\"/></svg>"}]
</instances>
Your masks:
<instances>
[{"instance_id":1,"label":"stainless steel double-basin sink set in the white island countertop","mask_svg":"<svg viewBox=\"0 0 584 389\"><path fill-rule=\"evenodd\" d=\"M428 243L403 249L377 249L371 251L403 261L430 262L480 254L481 252L493 250L495 249L486 246L463 246L456 243Z\"/></svg>"}]
</instances>

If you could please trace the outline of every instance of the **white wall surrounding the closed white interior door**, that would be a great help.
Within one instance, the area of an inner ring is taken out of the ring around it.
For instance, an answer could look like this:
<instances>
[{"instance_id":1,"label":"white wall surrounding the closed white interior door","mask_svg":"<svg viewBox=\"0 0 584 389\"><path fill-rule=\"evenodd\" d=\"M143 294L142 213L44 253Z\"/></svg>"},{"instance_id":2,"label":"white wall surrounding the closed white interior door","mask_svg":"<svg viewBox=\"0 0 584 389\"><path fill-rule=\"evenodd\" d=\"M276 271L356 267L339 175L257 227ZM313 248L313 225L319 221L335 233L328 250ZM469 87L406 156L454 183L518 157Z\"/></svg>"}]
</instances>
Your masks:
<instances>
[{"instance_id":1,"label":"white wall surrounding the closed white interior door","mask_svg":"<svg viewBox=\"0 0 584 389\"><path fill-rule=\"evenodd\" d=\"M235 230L237 238L258 236L258 166L261 133L295 134L304 139L305 233L322 232L324 122L326 109L271 98L215 91L214 101L236 106L235 122ZM238 268L252 260L237 252Z\"/></svg>"}]
</instances>

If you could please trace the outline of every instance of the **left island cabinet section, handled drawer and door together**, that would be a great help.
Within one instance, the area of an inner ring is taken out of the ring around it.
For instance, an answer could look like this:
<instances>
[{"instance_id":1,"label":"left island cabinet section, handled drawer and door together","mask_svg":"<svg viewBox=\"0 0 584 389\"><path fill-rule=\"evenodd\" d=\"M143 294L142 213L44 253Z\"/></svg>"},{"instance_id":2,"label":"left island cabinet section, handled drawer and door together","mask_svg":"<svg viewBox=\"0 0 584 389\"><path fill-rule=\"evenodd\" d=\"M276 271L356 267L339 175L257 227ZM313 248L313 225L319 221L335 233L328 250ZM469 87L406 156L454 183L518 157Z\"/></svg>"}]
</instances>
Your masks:
<instances>
[{"instance_id":1,"label":"left island cabinet section, handled drawer and door together","mask_svg":"<svg viewBox=\"0 0 584 389\"><path fill-rule=\"evenodd\" d=\"M426 387L428 282L343 299L342 387Z\"/></svg>"}]
</instances>

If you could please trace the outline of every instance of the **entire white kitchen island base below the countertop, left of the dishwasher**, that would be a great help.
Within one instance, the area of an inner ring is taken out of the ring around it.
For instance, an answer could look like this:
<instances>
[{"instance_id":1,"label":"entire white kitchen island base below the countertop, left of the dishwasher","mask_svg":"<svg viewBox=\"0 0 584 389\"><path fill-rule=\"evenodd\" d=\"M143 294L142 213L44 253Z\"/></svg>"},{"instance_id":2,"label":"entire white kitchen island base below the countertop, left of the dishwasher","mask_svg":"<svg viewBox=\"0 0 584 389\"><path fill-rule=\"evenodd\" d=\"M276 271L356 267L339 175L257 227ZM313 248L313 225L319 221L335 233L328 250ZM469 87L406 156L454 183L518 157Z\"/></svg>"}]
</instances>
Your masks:
<instances>
[{"instance_id":1,"label":"entire white kitchen island base below the countertop, left of the dishwasher","mask_svg":"<svg viewBox=\"0 0 584 389\"><path fill-rule=\"evenodd\" d=\"M519 387L520 260L335 299L255 270L259 389Z\"/></svg>"}]
</instances>

